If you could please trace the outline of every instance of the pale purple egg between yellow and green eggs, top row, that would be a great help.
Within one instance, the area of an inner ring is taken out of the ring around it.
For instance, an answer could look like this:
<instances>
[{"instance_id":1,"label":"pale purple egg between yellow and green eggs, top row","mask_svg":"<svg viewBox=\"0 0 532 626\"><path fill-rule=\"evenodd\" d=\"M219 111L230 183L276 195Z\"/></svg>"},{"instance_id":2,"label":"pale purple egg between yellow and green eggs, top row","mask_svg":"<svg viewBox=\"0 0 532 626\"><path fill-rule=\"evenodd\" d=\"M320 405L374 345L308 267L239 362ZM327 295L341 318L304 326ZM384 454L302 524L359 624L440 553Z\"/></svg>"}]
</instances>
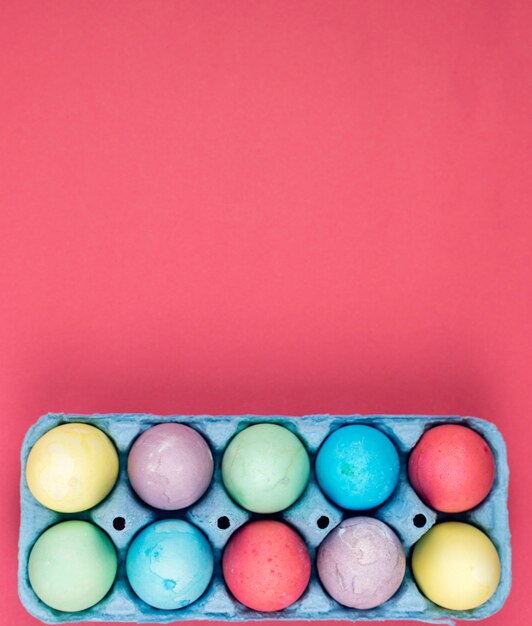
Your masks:
<instances>
[{"instance_id":1,"label":"pale purple egg between yellow and green eggs, top row","mask_svg":"<svg viewBox=\"0 0 532 626\"><path fill-rule=\"evenodd\" d=\"M212 479L205 439L184 424L146 430L129 452L127 473L137 495L156 509L183 509L199 500Z\"/></svg>"}]
</instances>

